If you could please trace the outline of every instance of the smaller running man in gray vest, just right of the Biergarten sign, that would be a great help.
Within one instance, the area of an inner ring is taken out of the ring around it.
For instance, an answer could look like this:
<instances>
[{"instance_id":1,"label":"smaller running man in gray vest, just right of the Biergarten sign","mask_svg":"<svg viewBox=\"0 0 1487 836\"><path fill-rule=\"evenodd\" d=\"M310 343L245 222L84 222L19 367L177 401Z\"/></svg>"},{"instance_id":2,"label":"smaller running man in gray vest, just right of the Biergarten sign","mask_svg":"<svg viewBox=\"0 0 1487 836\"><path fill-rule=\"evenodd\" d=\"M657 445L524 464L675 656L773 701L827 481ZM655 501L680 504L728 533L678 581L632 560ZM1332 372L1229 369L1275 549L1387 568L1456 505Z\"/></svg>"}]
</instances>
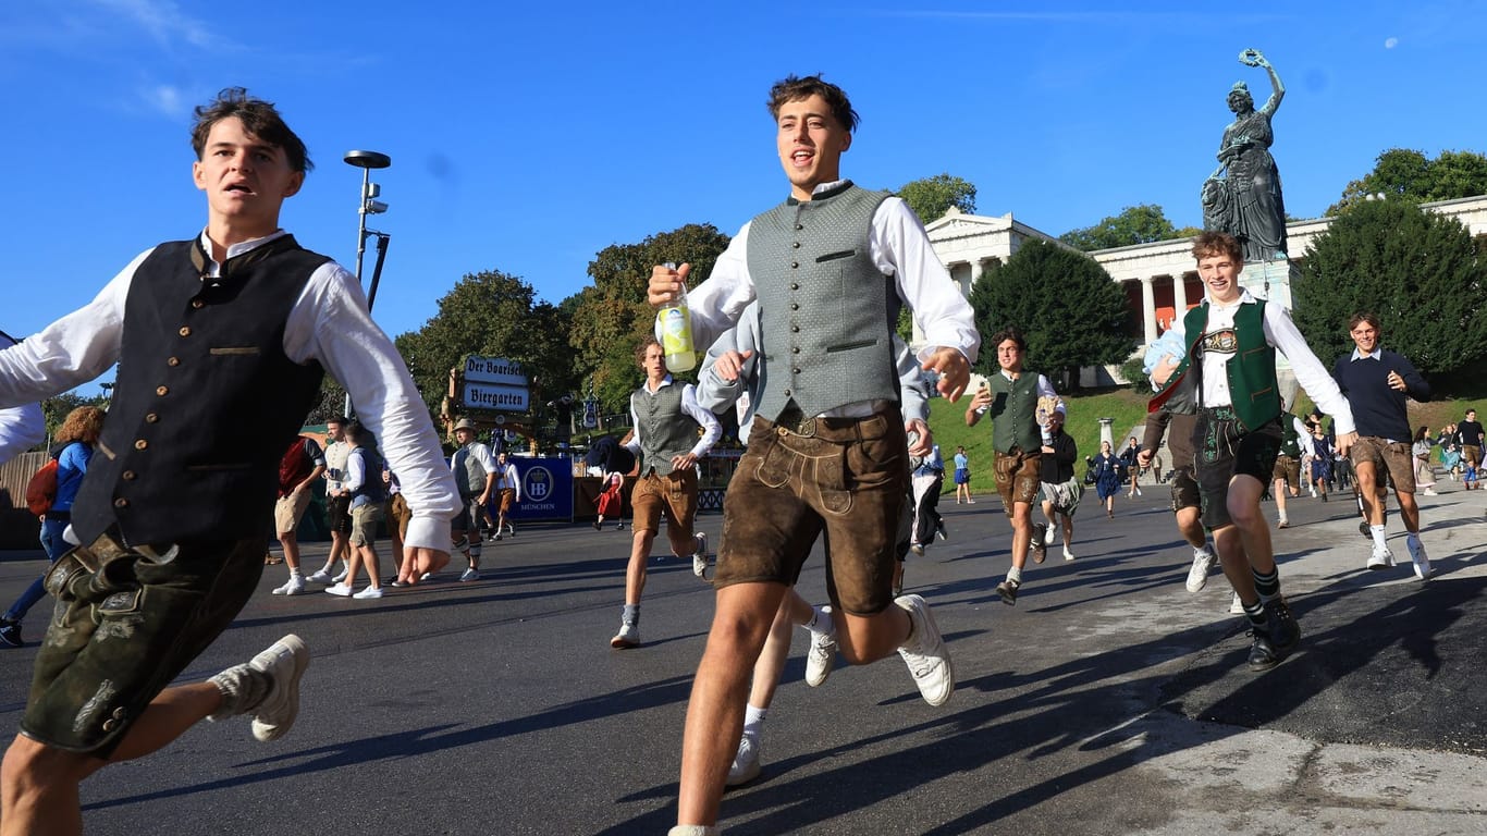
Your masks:
<instances>
[{"instance_id":1,"label":"smaller running man in gray vest, just right of the Biergarten sign","mask_svg":"<svg viewBox=\"0 0 1487 836\"><path fill-rule=\"evenodd\" d=\"M635 350L635 361L645 372L645 384L630 394L630 421L635 434L625 445L641 464L641 478L630 491L633 519L630 562L625 570L625 610L620 632L610 647L639 647L641 594L645 592L645 562L666 518L671 553L691 556L691 571L706 579L708 536L693 531L697 516L697 460L708 455L723 436L712 412L697 405L697 387L672 379L666 372L666 353L654 338ZM697 437L702 428L702 437Z\"/></svg>"}]
</instances>

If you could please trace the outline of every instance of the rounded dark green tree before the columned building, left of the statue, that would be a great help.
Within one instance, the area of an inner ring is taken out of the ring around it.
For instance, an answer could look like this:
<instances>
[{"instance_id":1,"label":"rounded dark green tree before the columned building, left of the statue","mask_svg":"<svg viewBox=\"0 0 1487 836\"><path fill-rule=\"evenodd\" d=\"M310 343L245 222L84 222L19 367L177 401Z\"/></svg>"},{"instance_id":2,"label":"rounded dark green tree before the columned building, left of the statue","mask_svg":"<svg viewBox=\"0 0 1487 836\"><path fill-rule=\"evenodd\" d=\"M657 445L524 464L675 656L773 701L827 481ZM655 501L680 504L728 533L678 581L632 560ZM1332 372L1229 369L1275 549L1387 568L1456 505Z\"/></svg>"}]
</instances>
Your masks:
<instances>
[{"instance_id":1,"label":"rounded dark green tree before the columned building, left of the statue","mask_svg":"<svg viewBox=\"0 0 1487 836\"><path fill-rule=\"evenodd\" d=\"M1059 391L1078 385L1081 366L1121 363L1135 347L1120 284L1094 259L1050 241L1030 239L992 265L970 299L981 338L1017 326L1028 338L1028 367L1048 375ZM996 370L995 347L981 347L975 367Z\"/></svg>"}]
</instances>

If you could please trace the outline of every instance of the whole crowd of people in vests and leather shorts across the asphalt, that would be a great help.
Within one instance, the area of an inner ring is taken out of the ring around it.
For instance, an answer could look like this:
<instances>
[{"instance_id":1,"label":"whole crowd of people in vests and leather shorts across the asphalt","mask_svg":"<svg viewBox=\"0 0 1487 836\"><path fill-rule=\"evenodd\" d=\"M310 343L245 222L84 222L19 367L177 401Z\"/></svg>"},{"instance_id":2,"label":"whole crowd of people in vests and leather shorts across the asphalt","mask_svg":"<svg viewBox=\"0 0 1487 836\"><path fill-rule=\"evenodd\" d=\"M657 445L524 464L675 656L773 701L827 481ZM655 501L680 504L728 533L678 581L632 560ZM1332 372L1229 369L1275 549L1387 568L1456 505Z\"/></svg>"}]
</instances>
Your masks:
<instances>
[{"instance_id":1,"label":"whole crowd of people in vests and leather shorts across the asphalt","mask_svg":"<svg viewBox=\"0 0 1487 836\"><path fill-rule=\"evenodd\" d=\"M749 220L687 293L691 333L709 347L697 384L672 376L654 339L636 348L644 381L630 397L630 461L616 464L614 451L601 470L595 527L623 525L625 486L632 507L610 646L642 647L641 598L663 521L671 553L714 589L672 836L717 833L724 787L760 775L763 726L796 626L810 637L809 686L822 686L839 657L867 665L897 655L929 705L956 687L929 602L904 594L903 577L910 555L947 537L938 512L946 461L926 422L925 375L959 400L981 336L907 204L842 176L858 122L846 94L790 76L770 89L769 112L788 198ZM0 350L4 457L37 442L30 403L119 364L109 412L76 411L57 436L58 489L42 519L52 565L0 620L0 641L19 646L25 611L48 592L58 601L21 733L0 766L3 836L43 823L80 832L80 781L199 720L250 716L260 741L288 732L311 659L296 635L207 681L171 684L256 591L271 519L288 570L272 594L284 597L317 585L376 599L385 585L434 579L454 555L464 559L461 582L480 580L485 541L516 536L513 463L482 443L470 419L454 425L446 460L354 277L280 229L283 202L311 165L274 106L223 91L196 110L193 150L202 232L152 247L91 303ZM1407 399L1429 399L1429 384L1381 347L1373 314L1347 323L1356 348L1328 370L1285 308L1240 286L1240 241L1204 232L1193 254L1206 299L1146 353L1154 394L1144 437L1120 452L1103 442L1088 479L1075 473L1068 405L1028 366L1016 326L989 336L995 370L964 421L990 422L987 464L1011 524L1010 568L995 585L1007 605L1023 594L1029 556L1041 564L1062 541L1063 559L1075 559L1086 482L1114 516L1117 494L1142 495L1139 475L1166 437L1175 522L1193 549L1187 588L1197 592L1222 570L1251 628L1248 665L1264 671L1301 641L1264 495L1286 528L1285 501L1300 497L1301 475L1322 501L1352 486L1371 543L1365 565L1386 570L1395 565L1384 521L1392 486L1405 552L1426 580L1433 567L1414 495L1432 494L1432 451L1448 479L1459 470L1463 488L1478 489L1483 428L1474 411L1433 436L1411 428ZM653 268L648 302L674 302L688 277L686 263ZM925 336L917 351L892 327L901 305ZM1277 354L1325 414L1288 412ZM345 385L355 418L329 421L321 448L297 430L324 372ZM720 437L715 414L729 409L748 446L714 555L694 527L696 464ZM958 504L975 501L974 469L958 448ZM332 544L306 574L296 531L321 485ZM382 522L397 568L387 583ZM818 540L827 599L812 604L794 585ZM134 602L128 631L110 622L122 601Z\"/></svg>"}]
</instances>

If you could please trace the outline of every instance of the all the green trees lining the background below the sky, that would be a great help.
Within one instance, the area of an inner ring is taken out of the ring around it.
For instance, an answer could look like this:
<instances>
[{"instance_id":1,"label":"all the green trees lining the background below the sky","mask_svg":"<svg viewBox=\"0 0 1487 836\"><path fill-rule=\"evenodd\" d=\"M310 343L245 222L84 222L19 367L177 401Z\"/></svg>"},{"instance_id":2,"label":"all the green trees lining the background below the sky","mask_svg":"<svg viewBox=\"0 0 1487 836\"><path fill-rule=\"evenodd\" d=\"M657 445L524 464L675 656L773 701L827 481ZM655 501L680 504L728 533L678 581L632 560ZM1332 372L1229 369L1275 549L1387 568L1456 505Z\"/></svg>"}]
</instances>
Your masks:
<instances>
[{"instance_id":1,"label":"all the green trees lining the background below the sky","mask_svg":"<svg viewBox=\"0 0 1487 836\"><path fill-rule=\"evenodd\" d=\"M925 223L952 208L975 211L975 186L949 173L904 183L897 193ZM1390 348L1447 388L1453 381L1480 385L1487 360L1487 253L1459 222L1419 204L1484 193L1487 156L1480 153L1380 153L1374 170L1328 207L1335 220L1304 254L1303 278L1292 286L1295 321L1313 351L1344 353L1347 318L1371 311L1383 320ZM975 278L970 295L975 324L983 335L1019 326L1029 361L1072 388L1080 367L1118 364L1132 351L1126 293L1084 253L1197 232L1173 226L1160 205L1141 204L1071 229L1057 242L1029 241ZM520 277L497 269L467 274L424 327L396 344L434 417L446 408L449 370L467 354L520 363L532 382L529 418L537 424L550 418L547 403L565 394L581 400L590 387L604 412L620 412L639 379L633 348L654 317L645 302L651 265L691 262L693 275L706 277L729 239L712 225L693 223L611 244L589 262L592 283L556 305ZM910 333L907 311L900 330ZM977 370L995 372L993 364L983 356ZM43 405L48 427L55 430L76 406L107 405L109 388L104 384L92 397L51 399ZM327 379L311 422L339 415L345 391Z\"/></svg>"}]
</instances>

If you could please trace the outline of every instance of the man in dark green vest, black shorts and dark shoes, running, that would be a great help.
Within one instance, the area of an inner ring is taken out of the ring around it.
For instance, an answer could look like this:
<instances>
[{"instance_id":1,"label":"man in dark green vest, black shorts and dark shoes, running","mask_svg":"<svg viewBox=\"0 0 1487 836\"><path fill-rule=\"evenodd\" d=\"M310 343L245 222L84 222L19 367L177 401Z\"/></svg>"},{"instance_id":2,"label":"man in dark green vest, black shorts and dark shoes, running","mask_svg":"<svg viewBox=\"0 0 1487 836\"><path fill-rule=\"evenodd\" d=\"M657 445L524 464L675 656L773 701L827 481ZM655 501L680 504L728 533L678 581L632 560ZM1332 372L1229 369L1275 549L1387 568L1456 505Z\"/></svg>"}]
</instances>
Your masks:
<instances>
[{"instance_id":1,"label":"man in dark green vest, black shorts and dark shoes, running","mask_svg":"<svg viewBox=\"0 0 1487 836\"><path fill-rule=\"evenodd\" d=\"M1358 433L1347 399L1307 348L1291 314L1239 286L1245 268L1239 241L1204 232L1194 239L1193 256L1207 299L1184 318L1188 353L1182 361L1152 372L1152 381L1163 387L1152 405L1178 390L1196 397L1194 467L1203 525L1213 533L1224 576L1249 619L1249 668L1265 671L1301 641L1301 628L1280 597L1270 527L1259 510L1283 434L1276 350L1291 361L1312 400L1332 414L1338 452L1346 454Z\"/></svg>"}]
</instances>

